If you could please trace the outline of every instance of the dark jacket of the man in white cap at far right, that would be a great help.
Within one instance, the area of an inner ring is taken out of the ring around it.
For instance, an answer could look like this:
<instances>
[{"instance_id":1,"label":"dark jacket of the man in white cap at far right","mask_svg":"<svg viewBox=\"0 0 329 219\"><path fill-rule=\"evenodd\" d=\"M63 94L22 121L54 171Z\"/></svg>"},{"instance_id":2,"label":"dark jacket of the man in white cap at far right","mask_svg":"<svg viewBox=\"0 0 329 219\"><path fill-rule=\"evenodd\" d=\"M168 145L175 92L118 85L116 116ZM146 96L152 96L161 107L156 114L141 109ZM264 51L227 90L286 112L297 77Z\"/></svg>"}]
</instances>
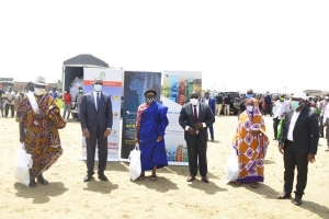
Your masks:
<instances>
[{"instance_id":1,"label":"dark jacket of the man in white cap at far right","mask_svg":"<svg viewBox=\"0 0 329 219\"><path fill-rule=\"evenodd\" d=\"M291 110L285 113L284 126L280 137L280 143L286 141L287 132L294 111ZM308 153L316 154L319 142L319 126L318 118L314 111L305 106L295 124L293 131L295 151L299 155L307 155Z\"/></svg>"}]
</instances>

